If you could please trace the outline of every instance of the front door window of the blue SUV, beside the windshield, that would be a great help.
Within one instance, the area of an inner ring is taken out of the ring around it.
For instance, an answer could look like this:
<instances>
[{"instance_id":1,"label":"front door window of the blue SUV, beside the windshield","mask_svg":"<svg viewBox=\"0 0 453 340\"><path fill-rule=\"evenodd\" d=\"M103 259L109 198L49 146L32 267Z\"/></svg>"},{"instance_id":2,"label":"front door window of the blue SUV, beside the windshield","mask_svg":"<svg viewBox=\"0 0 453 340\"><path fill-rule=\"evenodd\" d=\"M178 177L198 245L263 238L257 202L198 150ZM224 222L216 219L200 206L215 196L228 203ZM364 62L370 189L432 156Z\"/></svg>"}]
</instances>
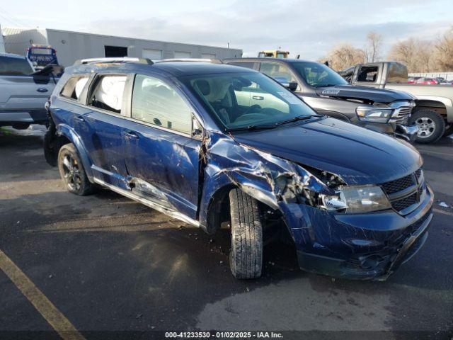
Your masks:
<instances>
[{"instance_id":1,"label":"front door window of the blue SUV, beside the windshield","mask_svg":"<svg viewBox=\"0 0 453 340\"><path fill-rule=\"evenodd\" d=\"M137 74L132 91L132 118L190 134L192 111L181 96L160 79Z\"/></svg>"}]
</instances>

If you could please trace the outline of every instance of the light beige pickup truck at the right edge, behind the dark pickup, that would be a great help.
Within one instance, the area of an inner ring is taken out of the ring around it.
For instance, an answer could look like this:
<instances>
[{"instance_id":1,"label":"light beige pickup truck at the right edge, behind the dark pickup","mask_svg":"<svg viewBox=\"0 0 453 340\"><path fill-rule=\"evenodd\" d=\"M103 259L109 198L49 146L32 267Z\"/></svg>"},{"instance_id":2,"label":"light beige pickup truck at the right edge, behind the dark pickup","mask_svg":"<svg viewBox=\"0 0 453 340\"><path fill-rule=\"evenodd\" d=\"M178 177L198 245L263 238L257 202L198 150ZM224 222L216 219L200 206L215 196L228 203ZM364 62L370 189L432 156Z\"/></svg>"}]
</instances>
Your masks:
<instances>
[{"instance_id":1,"label":"light beige pickup truck at the right edge, behind the dark pickup","mask_svg":"<svg viewBox=\"0 0 453 340\"><path fill-rule=\"evenodd\" d=\"M339 72L351 84L411 94L415 108L409 123L418 125L415 140L431 143L453 128L453 86L408 84L408 70L399 62L358 64Z\"/></svg>"}]
</instances>

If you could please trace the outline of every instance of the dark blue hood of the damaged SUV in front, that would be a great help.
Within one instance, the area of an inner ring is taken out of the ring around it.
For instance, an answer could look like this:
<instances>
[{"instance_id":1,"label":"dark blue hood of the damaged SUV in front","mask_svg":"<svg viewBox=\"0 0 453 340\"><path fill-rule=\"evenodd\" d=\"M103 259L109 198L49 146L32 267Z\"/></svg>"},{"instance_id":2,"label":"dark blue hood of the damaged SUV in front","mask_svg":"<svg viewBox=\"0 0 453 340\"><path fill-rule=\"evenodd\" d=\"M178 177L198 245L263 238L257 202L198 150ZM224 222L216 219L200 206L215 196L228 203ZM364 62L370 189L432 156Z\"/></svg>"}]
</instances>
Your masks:
<instances>
[{"instance_id":1,"label":"dark blue hood of the damaged SUV in front","mask_svg":"<svg viewBox=\"0 0 453 340\"><path fill-rule=\"evenodd\" d=\"M348 184L393 181L423 163L411 145L333 118L237 133L234 139L301 166L331 172Z\"/></svg>"}]
</instances>

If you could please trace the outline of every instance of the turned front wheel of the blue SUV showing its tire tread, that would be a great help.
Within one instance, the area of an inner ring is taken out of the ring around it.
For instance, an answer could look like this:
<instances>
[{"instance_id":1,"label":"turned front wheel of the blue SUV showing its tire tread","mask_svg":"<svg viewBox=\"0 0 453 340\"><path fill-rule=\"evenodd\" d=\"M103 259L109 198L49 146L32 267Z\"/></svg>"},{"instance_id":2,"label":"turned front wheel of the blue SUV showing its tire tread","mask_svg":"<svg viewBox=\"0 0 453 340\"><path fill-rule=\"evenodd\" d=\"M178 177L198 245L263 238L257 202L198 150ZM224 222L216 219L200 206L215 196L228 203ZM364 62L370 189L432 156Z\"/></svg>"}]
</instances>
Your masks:
<instances>
[{"instance_id":1,"label":"turned front wheel of the blue SUV showing its tire tread","mask_svg":"<svg viewBox=\"0 0 453 340\"><path fill-rule=\"evenodd\" d=\"M263 266L263 227L258 201L234 189L229 193L231 250L229 263L236 278L259 278Z\"/></svg>"}]
</instances>

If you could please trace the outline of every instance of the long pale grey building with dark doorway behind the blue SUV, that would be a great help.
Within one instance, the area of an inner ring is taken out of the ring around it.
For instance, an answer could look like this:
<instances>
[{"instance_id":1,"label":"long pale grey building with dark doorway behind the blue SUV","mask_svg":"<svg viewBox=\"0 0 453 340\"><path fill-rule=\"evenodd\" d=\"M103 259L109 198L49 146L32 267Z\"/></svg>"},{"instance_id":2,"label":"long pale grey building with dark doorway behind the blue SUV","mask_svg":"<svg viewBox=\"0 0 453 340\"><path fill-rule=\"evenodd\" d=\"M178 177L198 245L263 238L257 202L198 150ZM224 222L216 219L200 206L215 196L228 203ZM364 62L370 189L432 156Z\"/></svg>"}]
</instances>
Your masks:
<instances>
[{"instance_id":1,"label":"long pale grey building with dark doorway behind the blue SUV","mask_svg":"<svg viewBox=\"0 0 453 340\"><path fill-rule=\"evenodd\" d=\"M144 57L151 60L168 58L242 57L242 50L226 47L184 44L110 35L52 30L49 28L3 28L6 52L25 55L27 47L51 45L57 50L59 64L95 57Z\"/></svg>"}]
</instances>

